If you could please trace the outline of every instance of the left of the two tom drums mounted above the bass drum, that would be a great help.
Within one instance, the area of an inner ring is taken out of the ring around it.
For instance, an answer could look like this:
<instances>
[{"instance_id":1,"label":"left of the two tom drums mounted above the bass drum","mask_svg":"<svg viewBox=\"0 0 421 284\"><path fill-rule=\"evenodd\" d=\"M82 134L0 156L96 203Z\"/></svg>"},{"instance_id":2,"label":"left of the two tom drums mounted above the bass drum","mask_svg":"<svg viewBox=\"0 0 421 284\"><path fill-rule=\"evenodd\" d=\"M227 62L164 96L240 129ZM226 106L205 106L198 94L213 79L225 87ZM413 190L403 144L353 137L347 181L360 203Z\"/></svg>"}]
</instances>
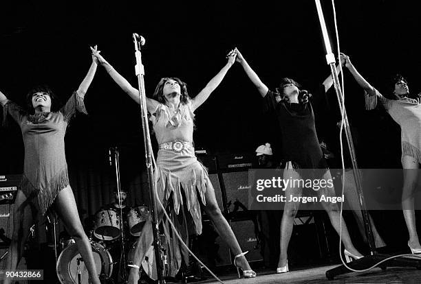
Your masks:
<instances>
[{"instance_id":1,"label":"left of the two tom drums mounted above the bass drum","mask_svg":"<svg viewBox=\"0 0 421 284\"><path fill-rule=\"evenodd\" d=\"M94 236L104 241L120 237L120 214L116 209L100 209L95 214Z\"/></svg>"}]
</instances>

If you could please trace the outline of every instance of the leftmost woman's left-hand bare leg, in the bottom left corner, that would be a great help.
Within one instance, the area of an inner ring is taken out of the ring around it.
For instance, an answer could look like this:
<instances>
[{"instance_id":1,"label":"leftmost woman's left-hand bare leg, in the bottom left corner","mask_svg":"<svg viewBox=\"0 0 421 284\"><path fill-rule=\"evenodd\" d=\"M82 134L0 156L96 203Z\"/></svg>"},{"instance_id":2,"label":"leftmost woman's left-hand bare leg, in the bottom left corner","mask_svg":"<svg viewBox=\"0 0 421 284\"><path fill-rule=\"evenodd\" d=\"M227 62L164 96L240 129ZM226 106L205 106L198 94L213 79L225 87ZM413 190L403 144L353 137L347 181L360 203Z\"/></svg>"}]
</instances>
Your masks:
<instances>
[{"instance_id":1,"label":"leftmost woman's left-hand bare leg, in the bottom left corner","mask_svg":"<svg viewBox=\"0 0 421 284\"><path fill-rule=\"evenodd\" d=\"M34 223L36 208L32 200L26 199L21 190L17 191L16 200L13 206L13 235L6 259L6 270L16 270L21 260L25 241L30 232L30 226ZM5 279L3 283L10 283L10 279Z\"/></svg>"}]
</instances>

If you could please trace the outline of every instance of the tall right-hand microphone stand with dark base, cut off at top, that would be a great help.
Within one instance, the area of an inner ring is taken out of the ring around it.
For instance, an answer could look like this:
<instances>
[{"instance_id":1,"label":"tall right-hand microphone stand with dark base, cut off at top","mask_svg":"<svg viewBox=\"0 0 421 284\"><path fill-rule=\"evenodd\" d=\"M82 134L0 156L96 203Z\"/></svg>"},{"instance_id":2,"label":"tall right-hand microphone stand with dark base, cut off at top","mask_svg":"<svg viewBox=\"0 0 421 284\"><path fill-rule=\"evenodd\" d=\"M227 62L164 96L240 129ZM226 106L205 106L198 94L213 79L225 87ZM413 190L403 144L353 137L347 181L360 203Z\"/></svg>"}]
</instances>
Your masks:
<instances>
[{"instance_id":1,"label":"tall right-hand microphone stand with dark base, cut off at top","mask_svg":"<svg viewBox=\"0 0 421 284\"><path fill-rule=\"evenodd\" d=\"M341 91L341 85L339 84L338 73L335 67L335 56L332 53L332 47L330 45L329 36L327 34L325 18L323 16L323 10L321 8L320 0L314 0L314 1L316 2L317 14L319 15L319 21L320 21L323 40L325 44L326 61L327 61L327 64L330 65L330 71L332 73L332 79L333 79L334 88L336 91L336 97L338 98L338 103L339 103L339 106L341 107L341 114L343 115L345 136L347 138L349 155L351 156L356 191L358 194L358 201L360 203L360 209L363 215L365 234L367 236L367 240L369 242L369 249L370 249L369 256L363 257L361 259L356 259L352 261L351 263L347 263L347 266L354 270L363 270L363 269L370 268L371 266L376 265L376 263L391 257L391 255L380 255L378 254L378 252L376 252L376 245L374 243L374 235L373 235L373 231L371 230L371 224L370 224L370 219L369 219L369 213L367 211L367 206L365 205L364 194L363 194L363 183L362 183L360 171L358 169L358 164L356 162L356 154L355 154L355 149L354 149L354 143L352 141L351 130L349 128L348 117L347 117L345 108L342 108L343 95ZM400 267L410 266L410 267L420 268L421 261L416 260L416 259L407 259L403 257L398 257L395 259L390 259L389 261L378 265L378 267L380 267L382 270L386 270L387 266L400 266ZM327 279L332 280L334 279L334 276L337 276L340 274L346 274L349 272L352 272L352 270L349 270L348 268L346 268L345 265L340 265L337 268L332 268L331 270L327 270L326 277Z\"/></svg>"}]
</instances>

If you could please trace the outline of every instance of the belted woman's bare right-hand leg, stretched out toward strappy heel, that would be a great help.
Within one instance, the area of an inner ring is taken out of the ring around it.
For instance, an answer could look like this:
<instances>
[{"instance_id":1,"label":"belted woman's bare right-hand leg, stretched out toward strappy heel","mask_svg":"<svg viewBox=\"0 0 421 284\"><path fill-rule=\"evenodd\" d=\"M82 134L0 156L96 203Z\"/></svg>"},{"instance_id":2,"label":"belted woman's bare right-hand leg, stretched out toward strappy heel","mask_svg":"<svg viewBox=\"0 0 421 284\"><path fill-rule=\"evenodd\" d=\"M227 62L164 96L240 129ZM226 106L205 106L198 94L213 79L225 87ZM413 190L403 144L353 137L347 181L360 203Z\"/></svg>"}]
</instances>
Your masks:
<instances>
[{"instance_id":1,"label":"belted woman's bare right-hand leg, stretched out toward strappy heel","mask_svg":"<svg viewBox=\"0 0 421 284\"><path fill-rule=\"evenodd\" d=\"M234 235L233 229L230 227L225 217L222 215L221 210L217 204L215 198L215 191L207 190L205 193L206 206L204 208L206 214L209 216L210 221L215 226L215 230L218 235L224 239L226 244L228 244L231 252L234 255L239 255L242 250L238 244L237 238ZM242 270L251 270L246 257L237 257L236 263Z\"/></svg>"}]
</instances>

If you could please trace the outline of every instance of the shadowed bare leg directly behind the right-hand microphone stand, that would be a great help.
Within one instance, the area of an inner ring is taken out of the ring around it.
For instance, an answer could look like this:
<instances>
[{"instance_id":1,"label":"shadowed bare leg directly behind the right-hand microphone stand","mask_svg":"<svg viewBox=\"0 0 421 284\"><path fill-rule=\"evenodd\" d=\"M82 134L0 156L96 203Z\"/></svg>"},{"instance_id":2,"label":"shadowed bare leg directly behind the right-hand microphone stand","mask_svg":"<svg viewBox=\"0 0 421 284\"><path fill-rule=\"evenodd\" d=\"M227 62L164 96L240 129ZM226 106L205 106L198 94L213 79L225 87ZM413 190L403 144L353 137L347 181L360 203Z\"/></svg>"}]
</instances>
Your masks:
<instances>
[{"instance_id":1,"label":"shadowed bare leg directly behind the right-hand microphone stand","mask_svg":"<svg viewBox=\"0 0 421 284\"><path fill-rule=\"evenodd\" d=\"M344 181L345 180L345 181ZM360 234L363 236L363 239L366 243L368 243L367 237L365 235L365 228L364 228L364 222L363 222L363 214L361 213L360 204L358 203L358 195L356 191L356 185L354 181L354 176L352 175L352 171L345 171L345 177L343 178L344 185L344 194L346 201L349 205L349 208L352 210L352 214L354 215L358 230L360 230ZM382 237L380 237L380 234L377 231L376 225L374 225L373 219L371 218L371 215L369 215L371 230L373 231L374 236L374 244L376 248L381 248L383 246L386 246L385 241L383 241Z\"/></svg>"}]
</instances>

